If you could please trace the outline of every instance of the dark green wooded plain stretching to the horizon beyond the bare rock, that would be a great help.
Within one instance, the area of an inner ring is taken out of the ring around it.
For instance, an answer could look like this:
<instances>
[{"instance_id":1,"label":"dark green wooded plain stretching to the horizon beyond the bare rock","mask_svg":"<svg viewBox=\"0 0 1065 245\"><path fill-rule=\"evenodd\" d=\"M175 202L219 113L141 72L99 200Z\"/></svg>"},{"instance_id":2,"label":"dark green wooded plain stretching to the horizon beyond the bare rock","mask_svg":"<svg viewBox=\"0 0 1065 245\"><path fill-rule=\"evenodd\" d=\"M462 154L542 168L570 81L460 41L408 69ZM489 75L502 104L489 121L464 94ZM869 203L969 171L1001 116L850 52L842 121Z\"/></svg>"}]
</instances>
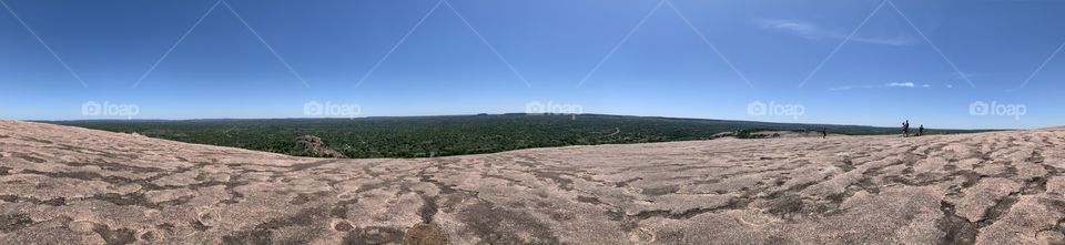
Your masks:
<instances>
[{"instance_id":1,"label":"dark green wooded plain stretching to the horizon beyond the bare rock","mask_svg":"<svg viewBox=\"0 0 1065 245\"><path fill-rule=\"evenodd\" d=\"M94 120L49 121L173 141L310 155L294 143L302 135L349 157L424 157L480 154L530 147L708 140L722 132L820 131L833 134L896 134L897 127L767 123L602 114L477 114L359 119ZM926 130L929 133L977 131Z\"/></svg>"}]
</instances>

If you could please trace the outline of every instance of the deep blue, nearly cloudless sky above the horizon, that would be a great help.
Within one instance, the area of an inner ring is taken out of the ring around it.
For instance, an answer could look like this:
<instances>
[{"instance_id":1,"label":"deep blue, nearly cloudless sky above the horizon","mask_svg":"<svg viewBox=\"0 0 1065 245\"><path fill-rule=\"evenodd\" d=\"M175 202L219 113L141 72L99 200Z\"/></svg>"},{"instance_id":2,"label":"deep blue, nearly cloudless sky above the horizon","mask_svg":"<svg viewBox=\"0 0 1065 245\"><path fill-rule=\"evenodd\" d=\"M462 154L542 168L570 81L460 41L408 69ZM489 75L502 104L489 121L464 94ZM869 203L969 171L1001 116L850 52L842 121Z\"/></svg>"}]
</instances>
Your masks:
<instances>
[{"instance_id":1,"label":"deep blue, nearly cloudless sky above the horizon","mask_svg":"<svg viewBox=\"0 0 1065 245\"><path fill-rule=\"evenodd\" d=\"M470 114L550 102L774 122L1065 124L1055 54L1065 1L2 2L3 119L317 116L308 103L355 105L357 116Z\"/></svg>"}]
</instances>

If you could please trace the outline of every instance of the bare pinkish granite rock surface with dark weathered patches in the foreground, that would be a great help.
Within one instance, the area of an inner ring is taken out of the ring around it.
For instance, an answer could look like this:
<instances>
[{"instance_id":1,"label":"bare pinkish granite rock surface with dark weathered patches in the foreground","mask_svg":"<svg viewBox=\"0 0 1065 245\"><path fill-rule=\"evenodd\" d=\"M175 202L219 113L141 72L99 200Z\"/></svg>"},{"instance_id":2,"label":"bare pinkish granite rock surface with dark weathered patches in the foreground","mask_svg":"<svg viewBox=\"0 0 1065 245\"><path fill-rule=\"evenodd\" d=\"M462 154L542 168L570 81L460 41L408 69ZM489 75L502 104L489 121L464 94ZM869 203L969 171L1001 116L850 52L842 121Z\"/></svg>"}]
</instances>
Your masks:
<instances>
[{"instance_id":1,"label":"bare pinkish granite rock surface with dark weathered patches in the foreground","mask_svg":"<svg viewBox=\"0 0 1065 245\"><path fill-rule=\"evenodd\" d=\"M1062 244L1065 131L324 160L0 121L2 244Z\"/></svg>"}]
</instances>

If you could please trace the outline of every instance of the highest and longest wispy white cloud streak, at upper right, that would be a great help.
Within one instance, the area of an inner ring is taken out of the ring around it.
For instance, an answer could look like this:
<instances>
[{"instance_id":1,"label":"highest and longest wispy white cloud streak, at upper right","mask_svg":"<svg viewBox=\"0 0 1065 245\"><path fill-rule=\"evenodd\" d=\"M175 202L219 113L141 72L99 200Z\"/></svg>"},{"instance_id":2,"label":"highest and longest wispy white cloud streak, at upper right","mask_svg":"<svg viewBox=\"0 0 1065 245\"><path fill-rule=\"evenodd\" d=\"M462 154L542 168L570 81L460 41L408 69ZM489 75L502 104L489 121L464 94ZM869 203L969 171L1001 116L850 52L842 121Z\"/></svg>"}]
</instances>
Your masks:
<instances>
[{"instance_id":1,"label":"highest and longest wispy white cloud streak, at upper right","mask_svg":"<svg viewBox=\"0 0 1065 245\"><path fill-rule=\"evenodd\" d=\"M784 19L757 19L754 22L761 25L763 29L779 30L784 32L790 32L792 34L799 35L809 40L842 40L846 39L848 34L836 30L829 30L822 28L815 23L800 21L800 20L784 20ZM870 44L882 44L882 45L907 45L914 43L914 39L909 37L893 37L893 38L883 38L883 37L861 37L853 35L850 38L851 41L864 42Z\"/></svg>"}]
</instances>

